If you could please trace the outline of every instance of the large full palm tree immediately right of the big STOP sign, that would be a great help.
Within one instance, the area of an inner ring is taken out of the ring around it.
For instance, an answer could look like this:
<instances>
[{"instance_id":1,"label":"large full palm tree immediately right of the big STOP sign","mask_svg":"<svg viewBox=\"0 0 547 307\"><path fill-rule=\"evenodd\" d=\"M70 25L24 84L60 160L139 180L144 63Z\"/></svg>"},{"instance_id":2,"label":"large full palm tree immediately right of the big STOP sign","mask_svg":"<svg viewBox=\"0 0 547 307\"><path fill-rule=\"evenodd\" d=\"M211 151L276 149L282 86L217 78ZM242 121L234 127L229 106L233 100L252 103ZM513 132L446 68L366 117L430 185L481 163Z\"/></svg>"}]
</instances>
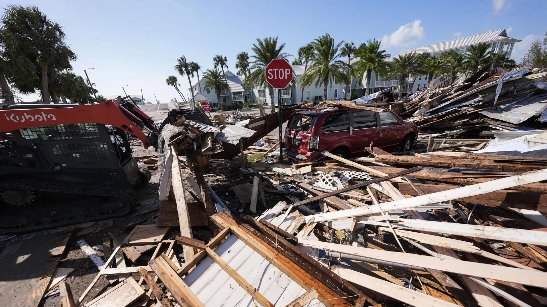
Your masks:
<instances>
[{"instance_id":1,"label":"large full palm tree immediately right of the big STOP sign","mask_svg":"<svg viewBox=\"0 0 547 307\"><path fill-rule=\"evenodd\" d=\"M347 84L350 81L346 72L350 71L348 64L339 60L341 54L338 52L340 46L344 41L335 44L334 39L330 37L330 34L325 33L315 39L312 42L313 55L310 58L311 64L308 70L302 75L302 85L313 85L317 88L321 83L323 84L323 101L327 99L327 85L329 81L338 80ZM332 87L332 84L331 84Z\"/></svg>"}]
</instances>

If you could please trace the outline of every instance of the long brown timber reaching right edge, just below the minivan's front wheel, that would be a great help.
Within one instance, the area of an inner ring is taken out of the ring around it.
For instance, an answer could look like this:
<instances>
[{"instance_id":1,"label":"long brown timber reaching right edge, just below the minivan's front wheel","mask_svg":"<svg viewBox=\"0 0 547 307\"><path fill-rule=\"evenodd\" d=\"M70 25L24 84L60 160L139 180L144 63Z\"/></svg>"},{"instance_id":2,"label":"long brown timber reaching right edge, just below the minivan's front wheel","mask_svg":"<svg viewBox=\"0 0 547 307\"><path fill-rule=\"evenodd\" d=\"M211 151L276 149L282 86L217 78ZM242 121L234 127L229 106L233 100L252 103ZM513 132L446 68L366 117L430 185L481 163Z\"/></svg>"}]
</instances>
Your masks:
<instances>
[{"instance_id":1,"label":"long brown timber reaching right edge, just below the minivan's front wheel","mask_svg":"<svg viewBox=\"0 0 547 307\"><path fill-rule=\"evenodd\" d=\"M510 156L508 156L510 157ZM374 157L375 162L386 163L386 164L398 164L398 165L408 165L408 166L428 166L428 167L464 167L464 168L481 168L481 169L492 169L492 170L503 170L508 171L521 171L527 172L528 170L543 169L547 168L547 165L532 165L532 164L513 164L513 163L500 163L492 162L489 160L467 160L467 159L450 159L450 158L432 158L432 157L410 157L410 156L376 156Z\"/></svg>"}]
</instances>

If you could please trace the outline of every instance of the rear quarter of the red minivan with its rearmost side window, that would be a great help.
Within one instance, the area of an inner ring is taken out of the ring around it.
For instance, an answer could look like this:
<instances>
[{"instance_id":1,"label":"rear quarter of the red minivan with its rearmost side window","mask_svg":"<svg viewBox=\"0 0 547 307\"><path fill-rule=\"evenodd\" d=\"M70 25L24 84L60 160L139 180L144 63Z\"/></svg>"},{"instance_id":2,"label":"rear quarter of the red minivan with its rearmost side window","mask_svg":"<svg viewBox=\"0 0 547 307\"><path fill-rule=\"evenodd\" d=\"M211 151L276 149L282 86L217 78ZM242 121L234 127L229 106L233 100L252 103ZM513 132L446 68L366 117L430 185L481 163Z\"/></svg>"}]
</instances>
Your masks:
<instances>
[{"instance_id":1,"label":"rear quarter of the red minivan with its rearmost side window","mask_svg":"<svg viewBox=\"0 0 547 307\"><path fill-rule=\"evenodd\" d=\"M327 116L323 121L321 138L319 138L319 151L333 150L338 146L346 146L351 149L350 140L350 112L335 113Z\"/></svg>"}]
</instances>

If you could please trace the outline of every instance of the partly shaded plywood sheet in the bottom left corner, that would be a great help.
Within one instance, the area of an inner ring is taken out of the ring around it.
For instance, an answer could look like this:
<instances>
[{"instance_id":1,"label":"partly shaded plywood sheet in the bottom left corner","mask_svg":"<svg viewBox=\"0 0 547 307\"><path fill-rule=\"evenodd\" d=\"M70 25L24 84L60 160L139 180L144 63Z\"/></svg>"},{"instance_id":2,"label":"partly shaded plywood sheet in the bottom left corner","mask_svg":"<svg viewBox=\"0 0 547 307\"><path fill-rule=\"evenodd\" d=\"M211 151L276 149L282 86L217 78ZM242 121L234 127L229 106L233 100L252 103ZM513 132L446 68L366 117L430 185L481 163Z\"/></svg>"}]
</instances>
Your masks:
<instances>
[{"instance_id":1,"label":"partly shaded plywood sheet in the bottom left corner","mask_svg":"<svg viewBox=\"0 0 547 307\"><path fill-rule=\"evenodd\" d=\"M8 245L0 254L0 307L38 306L71 231L41 235Z\"/></svg>"}]
</instances>

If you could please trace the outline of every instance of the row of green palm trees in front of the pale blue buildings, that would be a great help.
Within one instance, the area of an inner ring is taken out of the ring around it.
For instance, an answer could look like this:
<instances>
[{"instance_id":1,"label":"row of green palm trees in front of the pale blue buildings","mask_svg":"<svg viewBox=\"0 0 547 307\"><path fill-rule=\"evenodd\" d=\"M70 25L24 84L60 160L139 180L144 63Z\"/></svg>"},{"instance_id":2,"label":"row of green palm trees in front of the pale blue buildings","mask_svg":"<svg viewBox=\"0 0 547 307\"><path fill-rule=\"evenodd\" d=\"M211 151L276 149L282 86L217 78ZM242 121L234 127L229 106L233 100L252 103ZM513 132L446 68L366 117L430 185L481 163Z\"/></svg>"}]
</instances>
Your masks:
<instances>
[{"instance_id":1,"label":"row of green palm trees in front of the pale blue buildings","mask_svg":"<svg viewBox=\"0 0 547 307\"><path fill-rule=\"evenodd\" d=\"M469 46L468 52L465 54L450 50L442 52L437 57L427 52L422 54L408 52L394 57L391 61L388 61L391 55L387 54L386 50L381 49L381 43L381 40L376 39L369 39L366 43L359 44L359 46L356 46L353 42L344 42L344 40L336 43L330 34L325 33L314 39L313 42L301 46L295 60L292 62L293 65L304 65L304 74L299 84L301 100L304 100L305 87L323 87L323 97L327 99L329 83L332 86L334 80L338 80L341 84L351 86L351 80L354 78L365 80L364 95L369 95L370 80L373 73L376 74L377 78L383 80L398 80L399 99L401 99L403 84L406 78L410 76L427 75L428 80L440 76L441 81L452 84L456 81L458 74L474 73L489 63L502 69L516 67L516 62L510 60L507 53L494 53L490 50L491 45L487 43ZM252 46L251 50L254 54L251 56L245 51L240 52L236 56L235 66L238 69L237 74L243 78L243 86L250 90L253 87L267 88L270 101L274 101L274 88L266 82L265 68L275 58L287 59L293 56L285 52L284 49L285 43L278 43L277 37L266 37L264 39L257 38L257 42ZM356 60L353 63L351 63L352 58ZM186 63L185 58L184 63ZM228 68L228 59L225 56L215 56L213 63L214 69L208 69L203 74L205 89L214 90L220 102L220 91L229 90L224 74L224 68ZM175 68L181 76L188 76L191 85L190 76L193 77L199 69L191 69L190 64L185 64L184 67L188 69L181 70L177 66ZM295 86L295 79L293 78L293 86ZM183 97L176 86L176 80L176 77L170 76L167 78L167 84L174 86ZM357 83L353 85L353 90ZM190 87L190 91L194 96L193 87ZM271 108L272 110L275 109L274 103L271 104Z\"/></svg>"}]
</instances>

